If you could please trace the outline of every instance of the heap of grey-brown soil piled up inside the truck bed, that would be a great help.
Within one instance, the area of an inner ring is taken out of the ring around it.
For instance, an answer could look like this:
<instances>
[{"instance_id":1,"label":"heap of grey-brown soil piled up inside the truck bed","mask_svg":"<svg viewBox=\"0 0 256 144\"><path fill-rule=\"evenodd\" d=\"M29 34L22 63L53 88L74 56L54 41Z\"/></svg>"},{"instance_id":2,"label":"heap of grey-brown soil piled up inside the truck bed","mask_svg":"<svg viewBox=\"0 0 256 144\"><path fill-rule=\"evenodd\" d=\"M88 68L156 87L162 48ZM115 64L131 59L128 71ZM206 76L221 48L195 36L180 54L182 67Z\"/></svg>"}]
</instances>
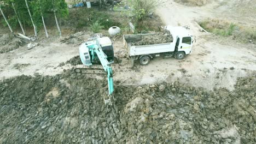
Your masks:
<instances>
[{"instance_id":1,"label":"heap of grey-brown soil piled up inside the truck bed","mask_svg":"<svg viewBox=\"0 0 256 144\"><path fill-rule=\"evenodd\" d=\"M130 41L131 46L136 45L154 45L163 43L172 43L173 38L169 31L163 30L156 34L142 35L142 37L135 41Z\"/></svg>"}]
</instances>

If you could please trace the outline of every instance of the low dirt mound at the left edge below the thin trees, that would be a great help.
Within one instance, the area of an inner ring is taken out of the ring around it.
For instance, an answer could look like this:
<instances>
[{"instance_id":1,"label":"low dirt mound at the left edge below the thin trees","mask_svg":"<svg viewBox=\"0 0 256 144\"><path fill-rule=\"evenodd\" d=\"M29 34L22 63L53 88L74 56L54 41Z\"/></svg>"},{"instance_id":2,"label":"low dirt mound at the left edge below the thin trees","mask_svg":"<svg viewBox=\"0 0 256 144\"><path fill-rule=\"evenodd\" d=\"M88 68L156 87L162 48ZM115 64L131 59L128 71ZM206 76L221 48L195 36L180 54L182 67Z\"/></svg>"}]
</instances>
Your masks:
<instances>
[{"instance_id":1,"label":"low dirt mound at the left edge below the thin trees","mask_svg":"<svg viewBox=\"0 0 256 144\"><path fill-rule=\"evenodd\" d=\"M14 37L14 35L0 35L0 53L18 49L22 45L24 45L24 43L19 38Z\"/></svg>"}]
</instances>

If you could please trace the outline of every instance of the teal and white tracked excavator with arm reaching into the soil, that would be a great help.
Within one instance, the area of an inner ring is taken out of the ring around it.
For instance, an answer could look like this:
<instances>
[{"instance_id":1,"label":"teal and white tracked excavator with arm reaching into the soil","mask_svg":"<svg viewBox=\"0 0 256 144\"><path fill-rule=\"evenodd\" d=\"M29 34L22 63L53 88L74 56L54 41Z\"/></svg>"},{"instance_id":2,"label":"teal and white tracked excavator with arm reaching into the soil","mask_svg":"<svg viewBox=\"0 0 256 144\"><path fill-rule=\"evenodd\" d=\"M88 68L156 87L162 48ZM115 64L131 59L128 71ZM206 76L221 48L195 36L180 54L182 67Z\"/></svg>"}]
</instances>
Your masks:
<instances>
[{"instance_id":1,"label":"teal and white tracked excavator with arm reaching into the soil","mask_svg":"<svg viewBox=\"0 0 256 144\"><path fill-rule=\"evenodd\" d=\"M75 68L75 72L87 74L107 74L108 97L107 99L104 98L104 102L105 104L112 105L111 96L114 92L113 69L110 65L114 63L114 49L112 41L108 37L96 35L95 37L92 37L90 41L80 45L79 55L83 65L85 65L87 68ZM91 68L92 65L99 63L101 63L103 69Z\"/></svg>"}]
</instances>

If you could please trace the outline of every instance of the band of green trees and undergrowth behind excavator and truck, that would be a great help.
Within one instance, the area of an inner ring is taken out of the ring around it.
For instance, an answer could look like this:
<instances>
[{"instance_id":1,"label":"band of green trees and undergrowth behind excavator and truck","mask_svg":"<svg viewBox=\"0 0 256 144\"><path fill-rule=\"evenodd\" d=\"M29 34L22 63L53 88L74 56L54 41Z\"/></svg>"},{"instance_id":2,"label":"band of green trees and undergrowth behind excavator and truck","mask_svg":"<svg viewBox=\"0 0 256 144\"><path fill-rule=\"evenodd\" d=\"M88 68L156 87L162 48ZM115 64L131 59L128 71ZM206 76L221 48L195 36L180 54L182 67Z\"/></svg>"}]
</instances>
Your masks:
<instances>
[{"instance_id":1,"label":"band of green trees and undergrowth behind excavator and truck","mask_svg":"<svg viewBox=\"0 0 256 144\"><path fill-rule=\"evenodd\" d=\"M0 0L1 1L1 0ZM3 5L3 11L5 16L8 19L8 22L11 23L11 27L19 28L19 22L17 16L14 13L14 9L11 8L11 0L4 0L9 1L10 3ZM26 7L25 0L14 0L15 9L18 12L19 18L21 23L28 32L31 32L32 28L32 21L30 19L30 15L28 15L28 10ZM136 0L137 1L137 0ZM138 0L141 1L141 0ZM109 11L103 10L98 8L86 8L86 7L79 7L79 8L72 8L67 9L67 4L63 0L27 0L28 6L30 8L33 22L36 26L36 31L42 29L43 20L45 21L45 25L47 28L50 29L49 34L55 35L57 34L54 29L56 29L57 23L59 23L59 27L62 27L63 33L69 34L78 31L94 31L94 32L103 32L102 30L108 30L112 26L117 26L122 29L123 33L129 33L129 22L132 22L133 25L136 26L136 32L138 33L147 33L149 31L158 31L159 27L163 25L161 19L157 15L148 16L148 13L151 13L154 8L149 7L152 5L153 1L144 1L143 2L150 2L146 3L148 5L144 5L145 9L141 11L147 11L145 14L137 15L134 17L132 15L123 15L120 14L120 11ZM50 3L50 2L54 2ZM71 1L74 2L74 1ZM41 6L41 7L40 7ZM136 6L138 7L138 6ZM151 10L149 10L151 9ZM126 10L127 11L127 10ZM132 10L129 10L130 12ZM55 13L57 19L55 19ZM129 12L129 13L130 13ZM134 12L134 11L133 11ZM127 12L128 13L128 12ZM127 14L126 13L126 14ZM1 19L2 20L2 19ZM56 21L56 22L55 22ZM57 22L58 21L58 22ZM3 24L6 25L6 22L3 20ZM47 35L47 29L45 28L45 34ZM58 27L58 26L57 26ZM58 28L59 29L59 28ZM16 29L15 29L16 30ZM53 32L54 31L54 32ZM42 34L39 33L39 34ZM61 35L61 31L59 31ZM47 37L47 36L46 36Z\"/></svg>"}]
</instances>

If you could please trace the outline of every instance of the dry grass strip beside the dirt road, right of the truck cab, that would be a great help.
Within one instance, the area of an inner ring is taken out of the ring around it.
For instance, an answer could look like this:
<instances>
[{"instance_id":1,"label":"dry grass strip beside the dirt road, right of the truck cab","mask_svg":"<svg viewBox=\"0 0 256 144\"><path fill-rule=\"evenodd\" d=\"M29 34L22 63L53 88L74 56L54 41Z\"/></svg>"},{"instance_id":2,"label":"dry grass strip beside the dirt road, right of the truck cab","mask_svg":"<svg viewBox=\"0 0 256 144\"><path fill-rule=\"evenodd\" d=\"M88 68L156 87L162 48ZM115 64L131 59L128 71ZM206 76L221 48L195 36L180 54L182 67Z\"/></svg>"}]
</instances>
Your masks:
<instances>
[{"instance_id":1,"label":"dry grass strip beside the dirt road, right of the truck cab","mask_svg":"<svg viewBox=\"0 0 256 144\"><path fill-rule=\"evenodd\" d=\"M218 20L205 19L199 22L199 25L206 31L223 37L232 37L241 43L256 41L256 28L244 27L236 23Z\"/></svg>"}]
</instances>

